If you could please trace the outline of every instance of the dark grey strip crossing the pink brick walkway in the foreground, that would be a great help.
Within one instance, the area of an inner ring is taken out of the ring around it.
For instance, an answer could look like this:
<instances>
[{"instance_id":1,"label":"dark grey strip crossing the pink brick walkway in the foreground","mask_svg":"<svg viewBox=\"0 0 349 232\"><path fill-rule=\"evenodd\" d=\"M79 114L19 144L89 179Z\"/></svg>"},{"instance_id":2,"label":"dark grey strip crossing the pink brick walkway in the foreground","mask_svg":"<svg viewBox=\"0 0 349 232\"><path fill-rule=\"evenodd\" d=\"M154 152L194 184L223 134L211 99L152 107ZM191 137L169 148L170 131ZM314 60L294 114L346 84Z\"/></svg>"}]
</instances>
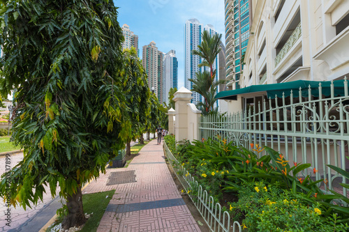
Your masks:
<instances>
[{"instance_id":1,"label":"dark grey strip crossing the pink brick walkway in the foreground","mask_svg":"<svg viewBox=\"0 0 349 232\"><path fill-rule=\"evenodd\" d=\"M138 210L151 210L154 208L165 208L172 206L184 206L186 203L183 199L169 199L159 201L148 201L142 203L128 203L125 205L109 204L105 211L107 212L133 212Z\"/></svg>"}]
</instances>

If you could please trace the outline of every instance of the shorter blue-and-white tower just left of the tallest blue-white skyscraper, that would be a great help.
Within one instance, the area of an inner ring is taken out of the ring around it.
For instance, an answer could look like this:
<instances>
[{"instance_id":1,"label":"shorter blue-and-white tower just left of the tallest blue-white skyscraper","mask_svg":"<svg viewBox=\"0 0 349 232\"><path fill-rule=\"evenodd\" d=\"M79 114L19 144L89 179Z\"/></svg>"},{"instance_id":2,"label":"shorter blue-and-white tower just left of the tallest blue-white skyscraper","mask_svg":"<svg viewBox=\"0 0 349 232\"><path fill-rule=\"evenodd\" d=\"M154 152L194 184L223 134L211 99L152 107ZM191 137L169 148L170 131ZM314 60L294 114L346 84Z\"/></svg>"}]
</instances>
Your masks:
<instances>
[{"instance_id":1,"label":"shorter blue-and-white tower just left of the tallest blue-white skyscraper","mask_svg":"<svg viewBox=\"0 0 349 232\"><path fill-rule=\"evenodd\" d=\"M163 59L163 101L166 104L170 88L178 89L178 62L174 50L166 53Z\"/></svg>"}]
</instances>

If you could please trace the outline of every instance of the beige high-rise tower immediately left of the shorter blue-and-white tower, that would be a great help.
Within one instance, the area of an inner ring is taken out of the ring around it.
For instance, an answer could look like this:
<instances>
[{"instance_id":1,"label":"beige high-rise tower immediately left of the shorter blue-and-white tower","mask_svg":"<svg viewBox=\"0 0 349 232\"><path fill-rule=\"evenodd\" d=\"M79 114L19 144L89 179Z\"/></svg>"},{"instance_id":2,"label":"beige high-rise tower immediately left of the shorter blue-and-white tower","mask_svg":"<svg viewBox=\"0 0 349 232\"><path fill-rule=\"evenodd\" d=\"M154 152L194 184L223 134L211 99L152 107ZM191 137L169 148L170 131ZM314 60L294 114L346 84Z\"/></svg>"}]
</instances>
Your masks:
<instances>
[{"instance_id":1,"label":"beige high-rise tower immediately left of the shorter blue-and-white tower","mask_svg":"<svg viewBox=\"0 0 349 232\"><path fill-rule=\"evenodd\" d=\"M151 41L149 45L143 46L142 65L148 75L148 84L151 89L154 87L154 93L159 102L163 102L163 52L158 50L156 43Z\"/></svg>"}]
</instances>

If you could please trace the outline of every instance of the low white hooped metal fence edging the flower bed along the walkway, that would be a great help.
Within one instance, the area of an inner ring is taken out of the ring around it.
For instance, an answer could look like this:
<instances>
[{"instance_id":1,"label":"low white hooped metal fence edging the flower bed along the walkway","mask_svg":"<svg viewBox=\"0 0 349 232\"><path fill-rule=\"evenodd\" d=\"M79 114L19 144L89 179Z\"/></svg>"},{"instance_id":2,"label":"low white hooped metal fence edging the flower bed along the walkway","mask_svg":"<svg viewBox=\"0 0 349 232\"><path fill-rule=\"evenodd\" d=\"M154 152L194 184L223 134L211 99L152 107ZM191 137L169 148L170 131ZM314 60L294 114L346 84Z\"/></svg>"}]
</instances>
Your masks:
<instances>
[{"instance_id":1,"label":"low white hooped metal fence edging the flower bed along the walkway","mask_svg":"<svg viewBox=\"0 0 349 232\"><path fill-rule=\"evenodd\" d=\"M220 203L214 203L213 196L209 196L206 190L202 189L201 185L198 185L198 181L194 180L191 173L188 173L184 167L182 167L177 159L172 155L167 144L164 143L166 157L170 162L174 173L181 181L188 196L191 198L196 208L205 219L205 222L214 232L241 232L242 228L239 222L232 222L229 212L223 211Z\"/></svg>"}]
</instances>

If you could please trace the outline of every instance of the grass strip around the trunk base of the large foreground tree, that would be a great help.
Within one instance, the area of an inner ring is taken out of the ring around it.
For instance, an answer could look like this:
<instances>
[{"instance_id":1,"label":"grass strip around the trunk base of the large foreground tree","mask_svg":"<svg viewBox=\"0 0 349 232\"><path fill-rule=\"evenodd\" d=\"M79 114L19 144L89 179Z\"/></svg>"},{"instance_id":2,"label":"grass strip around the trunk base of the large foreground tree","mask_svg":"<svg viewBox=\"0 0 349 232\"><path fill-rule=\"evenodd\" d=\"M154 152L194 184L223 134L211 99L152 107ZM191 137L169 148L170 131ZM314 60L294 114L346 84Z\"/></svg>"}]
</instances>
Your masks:
<instances>
[{"instance_id":1,"label":"grass strip around the trunk base of the large foreground tree","mask_svg":"<svg viewBox=\"0 0 349 232\"><path fill-rule=\"evenodd\" d=\"M94 214L87 219L87 222L82 227L82 232L94 232L97 231L99 223L104 215L107 205L112 199L115 190L110 190L107 192L96 192L94 194L84 194L82 195L82 206L84 207L84 212L87 214ZM51 231L54 226L60 224L63 221L63 217L59 217L52 226L50 226L46 231ZM53 231L51 231L53 232Z\"/></svg>"}]
</instances>

